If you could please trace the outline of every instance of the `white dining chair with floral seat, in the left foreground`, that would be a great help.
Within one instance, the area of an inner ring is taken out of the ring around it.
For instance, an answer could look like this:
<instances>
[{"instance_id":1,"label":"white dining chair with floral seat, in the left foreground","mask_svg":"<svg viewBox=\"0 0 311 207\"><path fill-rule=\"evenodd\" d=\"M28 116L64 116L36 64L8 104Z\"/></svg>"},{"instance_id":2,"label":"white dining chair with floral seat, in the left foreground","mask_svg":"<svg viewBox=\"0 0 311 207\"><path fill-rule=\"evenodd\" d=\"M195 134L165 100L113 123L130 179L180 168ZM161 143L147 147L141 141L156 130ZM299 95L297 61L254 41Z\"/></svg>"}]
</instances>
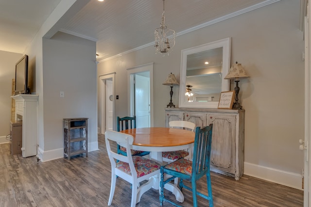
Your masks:
<instances>
[{"instance_id":1,"label":"white dining chair with floral seat, in the left foreground","mask_svg":"<svg viewBox=\"0 0 311 207\"><path fill-rule=\"evenodd\" d=\"M141 195L153 185L152 176L159 175L160 173L161 165L159 163L131 155L133 140L133 136L129 134L108 130L105 132L106 148L111 163L111 188L108 206L112 203L117 176L132 184L131 207L135 207L140 201ZM110 141L126 146L127 156L118 154L117 151L112 151ZM148 182L140 185L140 182L144 180L148 180Z\"/></svg>"}]
</instances>

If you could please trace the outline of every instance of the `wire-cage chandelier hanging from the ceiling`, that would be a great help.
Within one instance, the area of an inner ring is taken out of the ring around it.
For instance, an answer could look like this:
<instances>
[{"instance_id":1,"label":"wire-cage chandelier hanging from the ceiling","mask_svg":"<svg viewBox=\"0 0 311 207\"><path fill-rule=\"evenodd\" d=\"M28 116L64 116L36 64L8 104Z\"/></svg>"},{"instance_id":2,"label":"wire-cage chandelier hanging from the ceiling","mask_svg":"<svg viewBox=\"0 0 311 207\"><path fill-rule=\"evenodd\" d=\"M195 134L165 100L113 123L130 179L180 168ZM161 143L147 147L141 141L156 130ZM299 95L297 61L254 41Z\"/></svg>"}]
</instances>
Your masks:
<instances>
[{"instance_id":1,"label":"wire-cage chandelier hanging from the ceiling","mask_svg":"<svg viewBox=\"0 0 311 207\"><path fill-rule=\"evenodd\" d=\"M175 31L169 29L165 25L164 16L164 0L163 0L163 13L162 13L162 23L160 27L155 29L155 53L160 52L160 54L165 55L171 48L175 45ZM169 55L169 53L168 53Z\"/></svg>"}]
</instances>

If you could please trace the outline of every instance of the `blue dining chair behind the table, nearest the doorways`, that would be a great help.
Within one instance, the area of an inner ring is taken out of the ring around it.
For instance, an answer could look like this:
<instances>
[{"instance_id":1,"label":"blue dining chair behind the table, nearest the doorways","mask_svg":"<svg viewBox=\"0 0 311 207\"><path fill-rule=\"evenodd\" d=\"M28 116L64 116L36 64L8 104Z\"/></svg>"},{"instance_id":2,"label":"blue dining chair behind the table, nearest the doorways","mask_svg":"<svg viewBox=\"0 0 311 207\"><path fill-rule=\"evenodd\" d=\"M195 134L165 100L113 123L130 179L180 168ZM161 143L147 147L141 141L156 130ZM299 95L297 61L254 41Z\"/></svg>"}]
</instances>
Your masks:
<instances>
[{"instance_id":1,"label":"blue dining chair behind the table, nearest the doorways","mask_svg":"<svg viewBox=\"0 0 311 207\"><path fill-rule=\"evenodd\" d=\"M129 128L136 128L136 116L135 115L133 117L125 116L123 118L120 118L119 116L117 116L117 131L122 131L122 130L129 129ZM118 144L117 150L118 150L118 154L126 156L125 147L122 147ZM132 156L145 156L145 155L149 155L149 153L150 152L131 149Z\"/></svg>"}]
</instances>

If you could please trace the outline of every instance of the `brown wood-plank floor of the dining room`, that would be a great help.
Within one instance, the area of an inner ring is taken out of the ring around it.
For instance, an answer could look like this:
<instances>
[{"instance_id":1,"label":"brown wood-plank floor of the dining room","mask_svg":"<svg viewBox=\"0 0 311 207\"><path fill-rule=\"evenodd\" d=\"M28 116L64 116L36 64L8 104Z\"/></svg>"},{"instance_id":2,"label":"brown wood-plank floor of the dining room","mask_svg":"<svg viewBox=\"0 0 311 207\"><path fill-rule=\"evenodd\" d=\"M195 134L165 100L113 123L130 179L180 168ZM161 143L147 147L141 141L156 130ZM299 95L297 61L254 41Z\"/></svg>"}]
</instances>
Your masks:
<instances>
[{"instance_id":1,"label":"brown wood-plank floor of the dining room","mask_svg":"<svg viewBox=\"0 0 311 207\"><path fill-rule=\"evenodd\" d=\"M36 162L36 157L10 155L8 143L0 144L0 207L106 207L110 192L110 162L104 137L100 150L69 161ZM243 175L239 181L211 172L215 207L303 207L303 191ZM207 193L206 179L198 188ZM192 207L192 195L184 190L183 206ZM174 198L172 193L165 195ZM207 201L198 198L199 206ZM130 185L121 178L111 207L128 207ZM158 191L147 191L137 207L158 207ZM172 207L164 203L164 207Z\"/></svg>"}]
</instances>

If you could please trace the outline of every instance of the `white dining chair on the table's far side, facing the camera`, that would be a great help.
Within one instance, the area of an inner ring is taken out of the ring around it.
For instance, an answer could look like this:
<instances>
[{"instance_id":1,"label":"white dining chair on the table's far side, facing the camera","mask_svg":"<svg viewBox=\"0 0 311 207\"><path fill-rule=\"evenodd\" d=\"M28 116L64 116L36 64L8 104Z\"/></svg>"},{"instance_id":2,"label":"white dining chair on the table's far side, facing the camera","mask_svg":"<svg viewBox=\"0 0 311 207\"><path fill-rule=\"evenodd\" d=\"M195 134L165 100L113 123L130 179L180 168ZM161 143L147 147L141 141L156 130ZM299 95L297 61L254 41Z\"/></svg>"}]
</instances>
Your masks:
<instances>
[{"instance_id":1,"label":"white dining chair on the table's far side, facing the camera","mask_svg":"<svg viewBox=\"0 0 311 207\"><path fill-rule=\"evenodd\" d=\"M195 124L188 121L170 121L169 122L170 127L180 127L182 129L190 129L191 131L194 130ZM178 151L171 151L171 152L162 152L162 158L165 162L173 162L177 159L191 159L191 150L192 147L186 149L186 150L178 150Z\"/></svg>"}]
</instances>

